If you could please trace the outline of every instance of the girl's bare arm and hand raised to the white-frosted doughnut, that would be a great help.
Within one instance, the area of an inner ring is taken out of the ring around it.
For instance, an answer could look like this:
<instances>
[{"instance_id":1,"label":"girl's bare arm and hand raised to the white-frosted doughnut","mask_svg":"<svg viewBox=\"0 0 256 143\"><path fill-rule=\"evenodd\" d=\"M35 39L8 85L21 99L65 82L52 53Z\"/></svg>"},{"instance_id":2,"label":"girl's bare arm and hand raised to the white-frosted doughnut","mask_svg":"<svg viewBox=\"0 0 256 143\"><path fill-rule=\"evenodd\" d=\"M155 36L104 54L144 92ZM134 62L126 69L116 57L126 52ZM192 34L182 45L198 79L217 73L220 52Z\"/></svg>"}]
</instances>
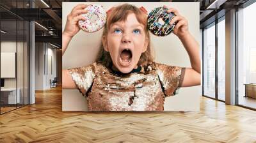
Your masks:
<instances>
[{"instance_id":1,"label":"girl's bare arm and hand raised to the white-frosted doughnut","mask_svg":"<svg viewBox=\"0 0 256 143\"><path fill-rule=\"evenodd\" d=\"M72 9L72 11L67 16L66 26L62 33L62 56L67 50L68 43L70 42L72 37L76 35L80 30L79 26L77 25L77 22L79 20L85 20L85 18L82 17L80 14L87 13L87 10L84 10L86 6L86 4L78 4ZM76 89L76 84L74 80L72 80L72 77L68 70L62 70L62 88Z\"/></svg>"}]
</instances>

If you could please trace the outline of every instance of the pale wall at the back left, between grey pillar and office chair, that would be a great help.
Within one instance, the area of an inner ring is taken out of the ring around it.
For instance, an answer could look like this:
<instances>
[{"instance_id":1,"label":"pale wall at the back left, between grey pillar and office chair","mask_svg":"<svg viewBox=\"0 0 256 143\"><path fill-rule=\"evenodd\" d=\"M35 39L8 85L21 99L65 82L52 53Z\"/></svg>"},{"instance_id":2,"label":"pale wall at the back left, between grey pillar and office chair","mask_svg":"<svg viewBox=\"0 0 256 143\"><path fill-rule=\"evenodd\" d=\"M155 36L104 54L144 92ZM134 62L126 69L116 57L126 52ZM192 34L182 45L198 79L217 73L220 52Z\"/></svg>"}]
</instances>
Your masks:
<instances>
[{"instance_id":1,"label":"pale wall at the back left, between grey pillar and office chair","mask_svg":"<svg viewBox=\"0 0 256 143\"><path fill-rule=\"evenodd\" d=\"M35 43L35 47L35 90L49 89L50 79L56 77L56 49L49 43Z\"/></svg>"}]
</instances>

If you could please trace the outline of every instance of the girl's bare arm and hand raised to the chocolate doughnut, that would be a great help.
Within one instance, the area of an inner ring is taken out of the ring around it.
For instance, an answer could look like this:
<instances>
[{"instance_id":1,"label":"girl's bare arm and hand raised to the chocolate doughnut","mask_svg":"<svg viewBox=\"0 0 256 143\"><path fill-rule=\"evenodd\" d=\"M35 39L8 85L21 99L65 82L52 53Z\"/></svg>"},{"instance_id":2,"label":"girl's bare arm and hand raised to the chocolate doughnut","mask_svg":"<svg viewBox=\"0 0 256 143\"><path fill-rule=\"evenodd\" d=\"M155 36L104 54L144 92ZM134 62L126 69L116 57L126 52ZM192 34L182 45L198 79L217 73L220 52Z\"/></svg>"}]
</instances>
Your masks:
<instances>
[{"instance_id":1,"label":"girl's bare arm and hand raised to the chocolate doughnut","mask_svg":"<svg viewBox=\"0 0 256 143\"><path fill-rule=\"evenodd\" d=\"M177 35L184 45L190 59L191 67L186 68L181 87L197 86L201 82L201 63L199 54L199 44L188 31L188 20L179 14L179 11L170 8L168 12L173 12L176 16L170 24L176 23L173 33Z\"/></svg>"}]
</instances>

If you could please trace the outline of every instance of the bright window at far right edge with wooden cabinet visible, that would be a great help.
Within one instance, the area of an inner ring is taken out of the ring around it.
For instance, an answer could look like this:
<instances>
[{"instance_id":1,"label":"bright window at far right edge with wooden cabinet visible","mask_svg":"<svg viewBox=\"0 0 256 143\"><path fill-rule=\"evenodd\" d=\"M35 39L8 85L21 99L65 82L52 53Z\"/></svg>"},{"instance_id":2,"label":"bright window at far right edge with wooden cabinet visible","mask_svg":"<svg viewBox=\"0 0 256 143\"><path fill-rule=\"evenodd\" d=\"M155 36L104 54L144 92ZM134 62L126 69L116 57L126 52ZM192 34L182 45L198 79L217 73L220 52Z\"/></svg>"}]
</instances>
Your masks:
<instances>
[{"instance_id":1,"label":"bright window at far right edge with wooden cabinet visible","mask_svg":"<svg viewBox=\"0 0 256 143\"><path fill-rule=\"evenodd\" d=\"M238 105L256 109L256 3L237 11Z\"/></svg>"}]
</instances>

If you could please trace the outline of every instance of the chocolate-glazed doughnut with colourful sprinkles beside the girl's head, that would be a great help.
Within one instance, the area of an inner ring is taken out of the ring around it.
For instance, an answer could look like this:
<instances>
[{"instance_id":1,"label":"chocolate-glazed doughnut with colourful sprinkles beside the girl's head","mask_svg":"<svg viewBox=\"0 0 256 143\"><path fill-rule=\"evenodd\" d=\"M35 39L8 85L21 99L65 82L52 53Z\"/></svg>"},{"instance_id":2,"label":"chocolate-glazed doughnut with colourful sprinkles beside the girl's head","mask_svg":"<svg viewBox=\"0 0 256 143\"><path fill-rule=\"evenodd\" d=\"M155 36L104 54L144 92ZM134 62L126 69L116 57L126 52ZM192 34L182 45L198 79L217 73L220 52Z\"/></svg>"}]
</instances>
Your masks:
<instances>
[{"instance_id":1,"label":"chocolate-glazed doughnut with colourful sprinkles beside the girl's head","mask_svg":"<svg viewBox=\"0 0 256 143\"><path fill-rule=\"evenodd\" d=\"M175 17L174 13L167 13L168 8L158 7L148 14L148 29L157 36L166 36L172 33L175 24L170 25L170 21ZM164 24L159 22L162 19Z\"/></svg>"}]
</instances>

